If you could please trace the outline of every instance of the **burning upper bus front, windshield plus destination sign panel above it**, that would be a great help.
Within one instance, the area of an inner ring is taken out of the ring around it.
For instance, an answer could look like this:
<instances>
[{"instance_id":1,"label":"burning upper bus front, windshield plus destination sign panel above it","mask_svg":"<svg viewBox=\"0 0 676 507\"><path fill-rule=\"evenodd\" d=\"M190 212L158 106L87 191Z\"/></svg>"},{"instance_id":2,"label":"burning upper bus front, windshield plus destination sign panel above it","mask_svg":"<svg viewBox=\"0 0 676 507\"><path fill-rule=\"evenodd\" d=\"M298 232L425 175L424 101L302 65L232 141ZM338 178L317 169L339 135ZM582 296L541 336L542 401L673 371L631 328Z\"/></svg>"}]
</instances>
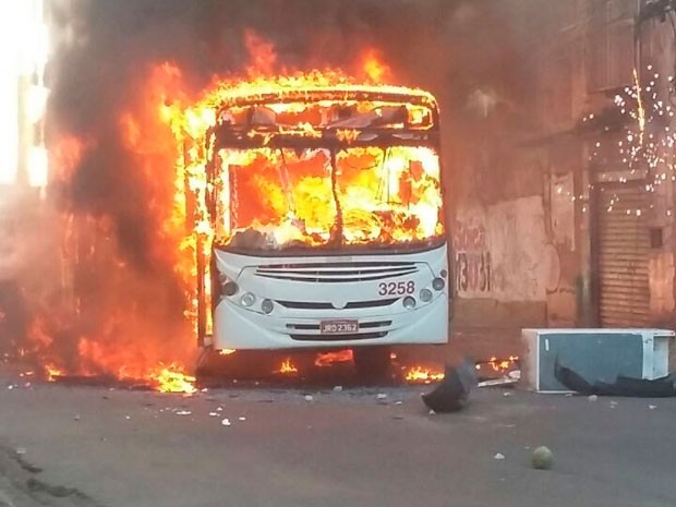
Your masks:
<instances>
[{"instance_id":1,"label":"burning upper bus front, windshield plus destination sign panel above it","mask_svg":"<svg viewBox=\"0 0 676 507\"><path fill-rule=\"evenodd\" d=\"M443 237L439 156L424 145L432 110L340 99L349 93L219 111L207 162L218 245L406 246Z\"/></svg>"}]
</instances>

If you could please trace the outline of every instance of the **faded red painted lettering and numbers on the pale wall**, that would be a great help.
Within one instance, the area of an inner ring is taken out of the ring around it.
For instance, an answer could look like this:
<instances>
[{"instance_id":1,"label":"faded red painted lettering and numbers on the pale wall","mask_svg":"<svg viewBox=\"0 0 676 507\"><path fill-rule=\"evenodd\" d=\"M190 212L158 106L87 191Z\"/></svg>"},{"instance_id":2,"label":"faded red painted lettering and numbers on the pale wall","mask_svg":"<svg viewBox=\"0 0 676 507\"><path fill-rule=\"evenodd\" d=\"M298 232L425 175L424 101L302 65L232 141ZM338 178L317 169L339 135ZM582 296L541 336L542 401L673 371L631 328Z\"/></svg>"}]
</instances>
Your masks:
<instances>
[{"instance_id":1,"label":"faded red painted lettering and numbers on the pale wall","mask_svg":"<svg viewBox=\"0 0 676 507\"><path fill-rule=\"evenodd\" d=\"M491 291L491 250L483 226L459 221L454 233L455 281L460 295L482 294Z\"/></svg>"}]
</instances>

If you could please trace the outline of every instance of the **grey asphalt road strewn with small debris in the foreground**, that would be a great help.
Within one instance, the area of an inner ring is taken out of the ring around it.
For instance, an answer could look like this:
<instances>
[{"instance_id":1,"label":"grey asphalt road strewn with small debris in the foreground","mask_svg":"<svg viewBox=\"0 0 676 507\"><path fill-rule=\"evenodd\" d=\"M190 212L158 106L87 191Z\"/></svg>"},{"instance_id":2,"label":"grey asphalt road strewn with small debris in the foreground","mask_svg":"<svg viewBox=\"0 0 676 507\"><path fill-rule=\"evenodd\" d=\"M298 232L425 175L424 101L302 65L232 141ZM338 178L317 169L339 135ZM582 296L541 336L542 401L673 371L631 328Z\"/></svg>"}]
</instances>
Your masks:
<instances>
[{"instance_id":1,"label":"grey asphalt road strewn with small debris in the foreground","mask_svg":"<svg viewBox=\"0 0 676 507\"><path fill-rule=\"evenodd\" d=\"M428 414L424 390L183 397L4 376L0 507L676 505L674 399L484 388ZM550 471L530 467L539 445Z\"/></svg>"}]
</instances>

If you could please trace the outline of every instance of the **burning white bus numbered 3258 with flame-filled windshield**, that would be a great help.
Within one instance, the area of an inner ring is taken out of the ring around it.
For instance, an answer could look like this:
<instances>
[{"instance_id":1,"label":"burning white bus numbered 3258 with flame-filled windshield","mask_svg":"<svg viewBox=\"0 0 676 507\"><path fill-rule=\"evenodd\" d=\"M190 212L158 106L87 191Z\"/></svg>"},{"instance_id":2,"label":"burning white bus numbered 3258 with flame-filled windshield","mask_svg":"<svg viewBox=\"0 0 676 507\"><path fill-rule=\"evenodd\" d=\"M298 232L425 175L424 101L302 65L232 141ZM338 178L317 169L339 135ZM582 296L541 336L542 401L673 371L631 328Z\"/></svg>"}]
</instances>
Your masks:
<instances>
[{"instance_id":1,"label":"burning white bus numbered 3258 with flame-filled windshield","mask_svg":"<svg viewBox=\"0 0 676 507\"><path fill-rule=\"evenodd\" d=\"M442 343L438 112L424 92L233 95L207 134L215 349Z\"/></svg>"}]
</instances>

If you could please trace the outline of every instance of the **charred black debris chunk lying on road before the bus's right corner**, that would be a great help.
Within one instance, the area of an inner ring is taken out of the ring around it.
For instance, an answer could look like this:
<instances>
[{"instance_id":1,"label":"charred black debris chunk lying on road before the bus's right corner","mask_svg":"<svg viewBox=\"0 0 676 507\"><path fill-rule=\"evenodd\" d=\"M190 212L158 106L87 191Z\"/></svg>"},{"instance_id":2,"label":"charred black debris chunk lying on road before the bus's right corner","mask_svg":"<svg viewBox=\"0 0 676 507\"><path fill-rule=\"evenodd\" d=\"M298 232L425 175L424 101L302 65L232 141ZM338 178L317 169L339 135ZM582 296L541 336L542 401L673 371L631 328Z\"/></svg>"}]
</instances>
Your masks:
<instances>
[{"instance_id":1,"label":"charred black debris chunk lying on road before the bus's right corner","mask_svg":"<svg viewBox=\"0 0 676 507\"><path fill-rule=\"evenodd\" d=\"M474 363L466 360L457 367L446 365L444 379L433 391L423 394L422 399L435 412L457 412L468 406L474 386Z\"/></svg>"}]
</instances>

